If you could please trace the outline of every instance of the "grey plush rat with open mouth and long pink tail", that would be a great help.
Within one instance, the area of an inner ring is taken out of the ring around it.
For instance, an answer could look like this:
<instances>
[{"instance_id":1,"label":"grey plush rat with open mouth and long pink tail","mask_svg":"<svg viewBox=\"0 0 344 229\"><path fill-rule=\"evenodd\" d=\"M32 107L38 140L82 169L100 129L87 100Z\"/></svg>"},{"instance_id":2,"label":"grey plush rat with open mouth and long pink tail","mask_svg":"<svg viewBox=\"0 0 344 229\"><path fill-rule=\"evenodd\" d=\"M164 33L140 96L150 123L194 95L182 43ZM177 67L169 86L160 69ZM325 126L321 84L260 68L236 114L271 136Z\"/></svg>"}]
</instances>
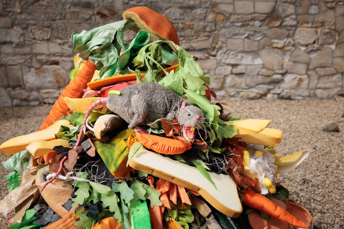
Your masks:
<instances>
[{"instance_id":1,"label":"grey plush rat with open mouth and long pink tail","mask_svg":"<svg viewBox=\"0 0 344 229\"><path fill-rule=\"evenodd\" d=\"M84 126L93 109L100 104L106 104L110 111L116 113L129 123L129 128L135 129L137 125L147 125L159 118L176 119L182 128L182 134L188 141L195 140L195 130L203 127L203 111L186 102L181 96L154 82L131 84L119 91L118 94L109 94L107 98L96 100L86 111L78 140L74 146L79 146L83 136ZM142 129L137 129L142 131ZM60 162L56 174L45 184L43 189L61 173L63 164L68 157Z\"/></svg>"}]
</instances>

